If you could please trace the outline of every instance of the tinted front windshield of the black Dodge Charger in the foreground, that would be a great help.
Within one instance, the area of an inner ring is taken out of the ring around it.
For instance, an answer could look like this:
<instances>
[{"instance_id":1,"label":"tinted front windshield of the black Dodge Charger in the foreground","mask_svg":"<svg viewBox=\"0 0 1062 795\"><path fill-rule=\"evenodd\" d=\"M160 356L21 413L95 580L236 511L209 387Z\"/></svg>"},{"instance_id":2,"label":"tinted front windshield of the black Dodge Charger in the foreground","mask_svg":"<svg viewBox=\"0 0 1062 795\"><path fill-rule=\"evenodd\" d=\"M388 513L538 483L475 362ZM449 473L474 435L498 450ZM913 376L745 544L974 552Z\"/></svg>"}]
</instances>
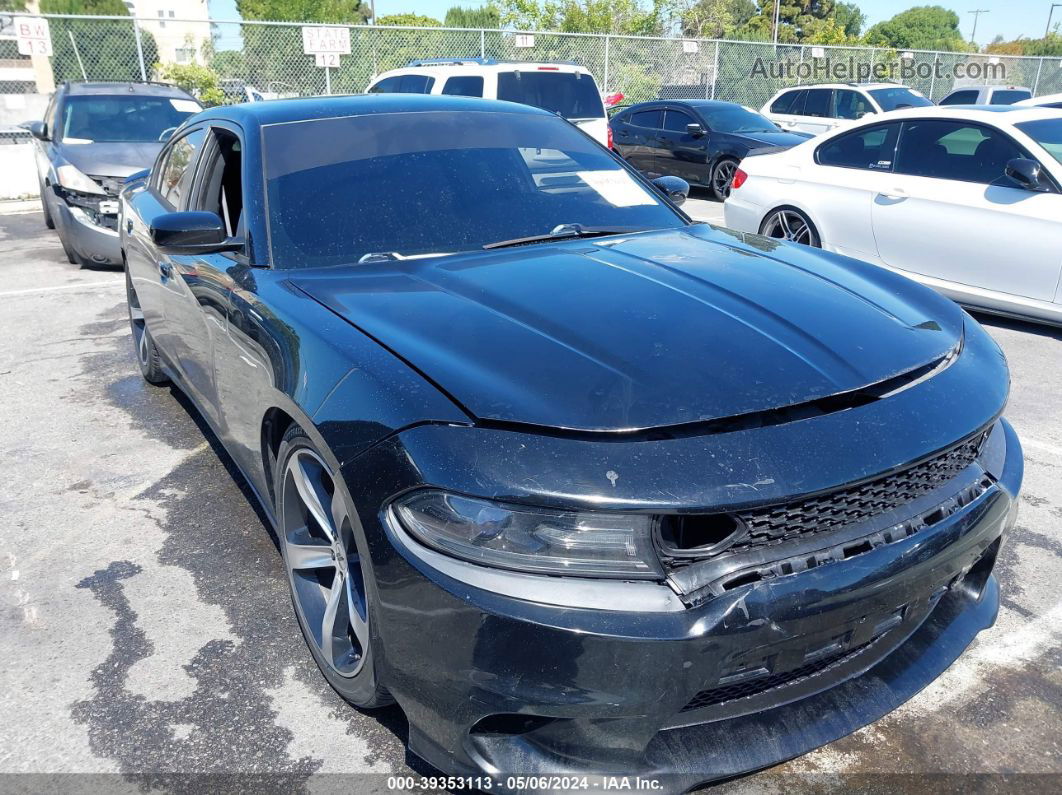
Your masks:
<instances>
[{"instance_id":1,"label":"tinted front windshield of the black Dodge Charger in the foreground","mask_svg":"<svg viewBox=\"0 0 1062 795\"><path fill-rule=\"evenodd\" d=\"M686 223L554 116L372 114L267 125L262 142L276 267L481 250L561 227Z\"/></svg>"}]
</instances>

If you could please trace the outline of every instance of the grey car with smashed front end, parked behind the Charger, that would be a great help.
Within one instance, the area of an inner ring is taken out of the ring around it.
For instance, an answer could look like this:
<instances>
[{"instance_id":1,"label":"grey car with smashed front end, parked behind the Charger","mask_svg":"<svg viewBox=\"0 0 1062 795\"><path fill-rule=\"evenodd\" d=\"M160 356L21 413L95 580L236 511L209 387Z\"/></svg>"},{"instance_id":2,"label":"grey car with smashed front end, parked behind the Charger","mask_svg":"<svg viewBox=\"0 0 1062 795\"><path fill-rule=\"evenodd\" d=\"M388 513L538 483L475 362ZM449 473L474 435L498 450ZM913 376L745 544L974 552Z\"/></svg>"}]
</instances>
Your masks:
<instances>
[{"instance_id":1,"label":"grey car with smashed front end, parked behind the Charger","mask_svg":"<svg viewBox=\"0 0 1062 795\"><path fill-rule=\"evenodd\" d=\"M202 106L162 83L64 83L31 123L45 224L74 264L121 264L118 192ZM173 186L174 190L182 187Z\"/></svg>"}]
</instances>

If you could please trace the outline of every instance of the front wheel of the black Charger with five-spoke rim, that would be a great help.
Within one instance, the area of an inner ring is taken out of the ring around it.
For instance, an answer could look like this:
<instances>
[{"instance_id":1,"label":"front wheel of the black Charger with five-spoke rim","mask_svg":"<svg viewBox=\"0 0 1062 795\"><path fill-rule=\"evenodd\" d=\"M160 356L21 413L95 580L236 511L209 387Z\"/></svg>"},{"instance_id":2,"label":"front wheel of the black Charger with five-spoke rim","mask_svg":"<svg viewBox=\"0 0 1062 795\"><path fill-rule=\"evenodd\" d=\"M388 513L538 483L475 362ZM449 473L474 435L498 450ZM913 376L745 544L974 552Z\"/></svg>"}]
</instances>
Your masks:
<instances>
[{"instance_id":1,"label":"front wheel of the black Charger with five-spoke rim","mask_svg":"<svg viewBox=\"0 0 1062 795\"><path fill-rule=\"evenodd\" d=\"M298 426L284 435L276 471L280 549L306 644L348 702L391 704L374 657L371 566L339 476Z\"/></svg>"}]
</instances>

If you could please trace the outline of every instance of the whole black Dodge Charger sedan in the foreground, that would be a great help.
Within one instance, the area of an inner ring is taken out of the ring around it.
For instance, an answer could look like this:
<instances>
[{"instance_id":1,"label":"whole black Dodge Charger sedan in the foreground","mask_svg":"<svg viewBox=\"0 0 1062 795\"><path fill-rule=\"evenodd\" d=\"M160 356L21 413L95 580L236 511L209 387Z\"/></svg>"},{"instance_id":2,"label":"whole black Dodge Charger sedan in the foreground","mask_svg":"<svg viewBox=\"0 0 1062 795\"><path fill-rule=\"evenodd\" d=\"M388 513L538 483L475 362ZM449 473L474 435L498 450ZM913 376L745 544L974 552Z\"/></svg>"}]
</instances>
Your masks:
<instances>
[{"instance_id":1,"label":"whole black Dodge Charger sedan in the foreground","mask_svg":"<svg viewBox=\"0 0 1062 795\"><path fill-rule=\"evenodd\" d=\"M447 773L758 768L995 618L1007 365L930 290L479 99L213 108L121 202L144 377L257 494L327 680Z\"/></svg>"}]
</instances>

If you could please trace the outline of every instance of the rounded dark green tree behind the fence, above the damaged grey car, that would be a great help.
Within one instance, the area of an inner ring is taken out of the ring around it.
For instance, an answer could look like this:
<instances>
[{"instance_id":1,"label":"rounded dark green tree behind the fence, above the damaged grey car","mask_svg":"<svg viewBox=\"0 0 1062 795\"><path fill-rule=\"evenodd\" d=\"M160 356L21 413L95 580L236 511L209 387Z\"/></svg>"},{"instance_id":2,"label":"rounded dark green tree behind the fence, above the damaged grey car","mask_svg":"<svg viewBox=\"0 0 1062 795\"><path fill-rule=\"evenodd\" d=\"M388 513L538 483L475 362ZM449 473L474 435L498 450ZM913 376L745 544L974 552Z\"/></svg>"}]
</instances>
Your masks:
<instances>
[{"instance_id":1,"label":"rounded dark green tree behind the fence, above the damaged grey car","mask_svg":"<svg viewBox=\"0 0 1062 795\"><path fill-rule=\"evenodd\" d=\"M41 14L97 14L127 17L122 0L40 0ZM52 71L65 80L139 81L140 53L132 22L118 19L52 19ZM155 38L140 31L144 71L158 61ZM80 58L79 58L80 56ZM84 68L84 71L82 69Z\"/></svg>"}]
</instances>

